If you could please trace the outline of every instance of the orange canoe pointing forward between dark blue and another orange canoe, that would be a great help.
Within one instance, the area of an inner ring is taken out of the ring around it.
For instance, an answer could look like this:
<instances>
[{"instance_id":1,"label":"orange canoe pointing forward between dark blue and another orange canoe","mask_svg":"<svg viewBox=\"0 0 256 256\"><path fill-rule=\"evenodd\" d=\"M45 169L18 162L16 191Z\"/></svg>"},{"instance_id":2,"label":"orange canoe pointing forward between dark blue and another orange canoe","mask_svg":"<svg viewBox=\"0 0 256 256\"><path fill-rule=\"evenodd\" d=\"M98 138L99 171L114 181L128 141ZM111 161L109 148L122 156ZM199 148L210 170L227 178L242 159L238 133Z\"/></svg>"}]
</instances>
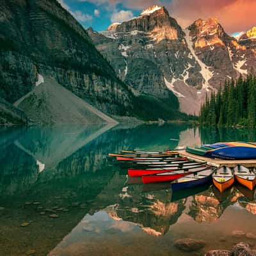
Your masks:
<instances>
[{"instance_id":1,"label":"orange canoe pointing forward between dark blue and another orange canoe","mask_svg":"<svg viewBox=\"0 0 256 256\"><path fill-rule=\"evenodd\" d=\"M212 174L212 181L214 186L222 193L234 184L234 173L227 166L223 166Z\"/></svg>"}]
</instances>

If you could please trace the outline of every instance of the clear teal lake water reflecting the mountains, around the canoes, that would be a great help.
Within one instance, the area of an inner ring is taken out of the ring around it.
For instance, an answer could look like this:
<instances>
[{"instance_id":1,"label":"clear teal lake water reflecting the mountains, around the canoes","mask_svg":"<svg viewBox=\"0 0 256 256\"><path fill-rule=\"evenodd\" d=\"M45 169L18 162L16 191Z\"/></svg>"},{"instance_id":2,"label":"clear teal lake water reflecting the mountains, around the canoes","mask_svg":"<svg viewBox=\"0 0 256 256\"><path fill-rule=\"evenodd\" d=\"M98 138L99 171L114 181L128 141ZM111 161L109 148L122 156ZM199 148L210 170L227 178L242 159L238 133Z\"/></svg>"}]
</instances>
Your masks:
<instances>
[{"instance_id":1,"label":"clear teal lake water reflecting the mountains, around the canoes","mask_svg":"<svg viewBox=\"0 0 256 256\"><path fill-rule=\"evenodd\" d=\"M106 156L124 148L256 141L255 134L170 124L1 128L0 255L204 255L240 241L254 246L252 237L232 236L256 234L254 191L234 186L220 195L204 186L172 193L169 184L127 179ZM206 246L177 250L174 241L184 237Z\"/></svg>"}]
</instances>

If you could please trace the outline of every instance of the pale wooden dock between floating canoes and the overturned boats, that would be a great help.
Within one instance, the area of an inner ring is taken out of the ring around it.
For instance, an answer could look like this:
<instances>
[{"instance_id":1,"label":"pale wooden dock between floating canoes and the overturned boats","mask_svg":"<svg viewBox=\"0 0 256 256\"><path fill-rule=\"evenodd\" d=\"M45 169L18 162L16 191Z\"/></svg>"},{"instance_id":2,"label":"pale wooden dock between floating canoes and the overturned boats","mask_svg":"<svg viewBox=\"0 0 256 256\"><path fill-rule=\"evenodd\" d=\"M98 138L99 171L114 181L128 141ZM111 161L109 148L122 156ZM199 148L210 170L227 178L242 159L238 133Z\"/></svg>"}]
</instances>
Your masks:
<instances>
[{"instance_id":1,"label":"pale wooden dock between floating canoes and the overturned boats","mask_svg":"<svg viewBox=\"0 0 256 256\"><path fill-rule=\"evenodd\" d=\"M237 164L241 164L243 166L246 166L248 168L253 168L256 167L256 159L252 160L223 160L223 159L212 159L209 157L204 157L204 156L198 156L195 154L191 154L186 152L185 150L179 151L180 156L182 157L188 157L188 159L197 161L197 162L206 162L207 164L211 166L228 166L228 167L235 167Z\"/></svg>"}]
</instances>

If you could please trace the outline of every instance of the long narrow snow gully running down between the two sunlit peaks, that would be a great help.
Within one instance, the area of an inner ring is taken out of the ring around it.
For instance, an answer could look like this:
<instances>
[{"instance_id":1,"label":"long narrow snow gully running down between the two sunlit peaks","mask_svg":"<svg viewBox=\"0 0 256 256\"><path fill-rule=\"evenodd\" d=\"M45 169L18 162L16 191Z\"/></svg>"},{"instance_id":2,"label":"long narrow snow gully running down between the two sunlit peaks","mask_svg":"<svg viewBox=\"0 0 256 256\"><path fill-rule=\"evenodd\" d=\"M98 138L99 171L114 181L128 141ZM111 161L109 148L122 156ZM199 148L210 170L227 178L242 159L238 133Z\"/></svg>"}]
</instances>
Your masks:
<instances>
[{"instance_id":1,"label":"long narrow snow gully running down between the two sunlit peaks","mask_svg":"<svg viewBox=\"0 0 256 256\"><path fill-rule=\"evenodd\" d=\"M193 57L195 58L195 60L197 61L197 63L200 65L201 67L201 71L200 73L202 74L202 76L204 77L204 83L203 83L203 88L207 91L209 91L209 88L211 88L211 86L209 85L209 80L212 78L213 74L212 72L209 70L209 67L207 67L201 60L199 60L198 56L196 56L196 52L193 48L193 42L191 40L191 37L189 36L189 30L186 29L184 31L185 33L185 40L188 44L188 48L191 52L191 54L193 55Z\"/></svg>"}]
</instances>

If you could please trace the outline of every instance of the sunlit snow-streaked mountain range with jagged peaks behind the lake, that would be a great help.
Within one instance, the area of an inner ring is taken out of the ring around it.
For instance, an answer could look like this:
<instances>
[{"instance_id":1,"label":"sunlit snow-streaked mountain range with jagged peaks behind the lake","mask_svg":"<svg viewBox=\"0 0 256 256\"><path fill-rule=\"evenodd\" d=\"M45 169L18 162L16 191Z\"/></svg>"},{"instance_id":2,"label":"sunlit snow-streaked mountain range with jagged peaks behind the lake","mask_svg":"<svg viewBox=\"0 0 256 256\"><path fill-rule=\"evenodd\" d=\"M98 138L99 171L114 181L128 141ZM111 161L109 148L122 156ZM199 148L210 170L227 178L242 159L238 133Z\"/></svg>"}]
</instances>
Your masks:
<instances>
[{"instance_id":1,"label":"sunlit snow-streaked mountain range with jagged peaks behind the lake","mask_svg":"<svg viewBox=\"0 0 256 256\"><path fill-rule=\"evenodd\" d=\"M100 33L88 29L97 49L134 93L164 99L172 91L180 110L192 114L198 113L207 92L226 79L246 76L255 65L253 33L246 35L250 40L237 41L214 18L198 19L183 30L160 6Z\"/></svg>"}]
</instances>

